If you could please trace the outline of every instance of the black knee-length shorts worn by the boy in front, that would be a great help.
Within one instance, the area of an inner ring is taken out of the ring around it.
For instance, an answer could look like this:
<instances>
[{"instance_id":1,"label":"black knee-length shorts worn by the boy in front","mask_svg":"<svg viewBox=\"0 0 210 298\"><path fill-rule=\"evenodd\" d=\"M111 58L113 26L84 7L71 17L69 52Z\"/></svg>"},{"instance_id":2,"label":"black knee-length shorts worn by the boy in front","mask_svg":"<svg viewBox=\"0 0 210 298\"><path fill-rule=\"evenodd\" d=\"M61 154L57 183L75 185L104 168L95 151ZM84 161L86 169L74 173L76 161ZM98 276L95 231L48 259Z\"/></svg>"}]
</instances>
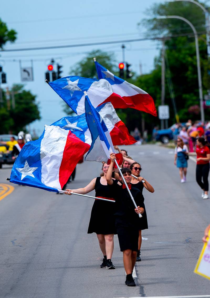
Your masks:
<instances>
[{"instance_id":1,"label":"black knee-length shorts worn by the boy in front","mask_svg":"<svg viewBox=\"0 0 210 298\"><path fill-rule=\"evenodd\" d=\"M131 249L134 252L138 250L138 226L121 226L116 223L120 250Z\"/></svg>"}]
</instances>

